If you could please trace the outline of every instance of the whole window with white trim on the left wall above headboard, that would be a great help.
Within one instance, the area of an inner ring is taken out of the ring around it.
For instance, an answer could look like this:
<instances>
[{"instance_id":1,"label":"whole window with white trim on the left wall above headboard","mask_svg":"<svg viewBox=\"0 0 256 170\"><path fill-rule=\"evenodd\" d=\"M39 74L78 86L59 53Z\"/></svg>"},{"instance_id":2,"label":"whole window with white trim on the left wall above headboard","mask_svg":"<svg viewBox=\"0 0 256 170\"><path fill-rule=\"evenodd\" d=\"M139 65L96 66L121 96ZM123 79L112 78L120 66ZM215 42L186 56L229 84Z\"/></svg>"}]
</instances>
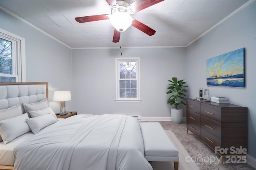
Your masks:
<instances>
[{"instance_id":1,"label":"whole window with white trim on the left wall above headboard","mask_svg":"<svg viewBox=\"0 0 256 170\"><path fill-rule=\"evenodd\" d=\"M25 39L1 29L0 82L26 82Z\"/></svg>"}]
</instances>

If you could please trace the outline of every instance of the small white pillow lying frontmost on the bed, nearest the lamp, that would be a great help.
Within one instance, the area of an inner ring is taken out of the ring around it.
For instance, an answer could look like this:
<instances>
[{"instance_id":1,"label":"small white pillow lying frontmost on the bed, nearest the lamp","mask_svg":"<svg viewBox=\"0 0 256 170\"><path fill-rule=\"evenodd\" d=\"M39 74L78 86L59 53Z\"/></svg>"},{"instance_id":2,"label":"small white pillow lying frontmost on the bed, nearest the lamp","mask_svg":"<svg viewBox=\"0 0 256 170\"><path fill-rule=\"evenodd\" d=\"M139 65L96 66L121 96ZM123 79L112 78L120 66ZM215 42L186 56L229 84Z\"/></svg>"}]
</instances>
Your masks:
<instances>
[{"instance_id":1,"label":"small white pillow lying frontmost on the bed, nearest the lamp","mask_svg":"<svg viewBox=\"0 0 256 170\"><path fill-rule=\"evenodd\" d=\"M38 133L44 127L57 122L50 114L26 119L26 121L34 134Z\"/></svg>"}]
</instances>

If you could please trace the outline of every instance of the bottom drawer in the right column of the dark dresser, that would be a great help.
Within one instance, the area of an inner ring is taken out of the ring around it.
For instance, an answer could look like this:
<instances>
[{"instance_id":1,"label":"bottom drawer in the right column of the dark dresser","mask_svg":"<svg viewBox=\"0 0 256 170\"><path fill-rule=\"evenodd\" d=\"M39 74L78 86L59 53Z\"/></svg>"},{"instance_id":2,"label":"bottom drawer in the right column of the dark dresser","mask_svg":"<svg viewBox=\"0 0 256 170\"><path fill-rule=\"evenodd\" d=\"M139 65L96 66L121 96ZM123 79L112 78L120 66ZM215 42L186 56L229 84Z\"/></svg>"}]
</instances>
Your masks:
<instances>
[{"instance_id":1,"label":"bottom drawer in the right column of the dark dresser","mask_svg":"<svg viewBox=\"0 0 256 170\"><path fill-rule=\"evenodd\" d=\"M212 135L208 131L201 128L201 139L209 145L212 149L215 149L215 147L221 148L221 139L218 137Z\"/></svg>"}]
</instances>

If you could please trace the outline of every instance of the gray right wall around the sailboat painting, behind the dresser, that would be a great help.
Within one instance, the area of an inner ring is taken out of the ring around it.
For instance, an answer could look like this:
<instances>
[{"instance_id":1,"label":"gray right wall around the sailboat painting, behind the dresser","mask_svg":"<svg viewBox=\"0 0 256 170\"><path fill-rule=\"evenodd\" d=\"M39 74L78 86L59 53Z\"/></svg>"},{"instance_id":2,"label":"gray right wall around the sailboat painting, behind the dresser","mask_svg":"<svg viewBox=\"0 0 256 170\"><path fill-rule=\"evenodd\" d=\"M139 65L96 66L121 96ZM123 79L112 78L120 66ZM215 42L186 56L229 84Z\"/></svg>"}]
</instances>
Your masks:
<instances>
[{"instance_id":1,"label":"gray right wall around the sailboat painting, behind the dresser","mask_svg":"<svg viewBox=\"0 0 256 170\"><path fill-rule=\"evenodd\" d=\"M245 47L245 88L206 86L206 59ZM210 96L225 96L230 103L248 107L248 154L256 158L256 2L186 48L186 81L190 98L199 88Z\"/></svg>"}]
</instances>

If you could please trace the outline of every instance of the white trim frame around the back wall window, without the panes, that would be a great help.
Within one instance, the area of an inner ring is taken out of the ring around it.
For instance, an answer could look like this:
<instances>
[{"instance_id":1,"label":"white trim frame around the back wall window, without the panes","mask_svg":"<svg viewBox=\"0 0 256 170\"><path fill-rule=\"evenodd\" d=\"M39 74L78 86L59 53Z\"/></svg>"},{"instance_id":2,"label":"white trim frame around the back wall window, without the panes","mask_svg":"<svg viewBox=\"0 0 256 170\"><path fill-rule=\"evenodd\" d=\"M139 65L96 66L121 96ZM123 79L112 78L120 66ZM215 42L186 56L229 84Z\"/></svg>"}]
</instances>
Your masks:
<instances>
[{"instance_id":1,"label":"white trim frame around the back wall window, without the panes","mask_svg":"<svg viewBox=\"0 0 256 170\"><path fill-rule=\"evenodd\" d=\"M135 61L137 64L137 98L119 98L119 77L120 77L120 65L119 62ZM141 102L140 99L140 57L127 57L116 58L116 102Z\"/></svg>"}]
</instances>

